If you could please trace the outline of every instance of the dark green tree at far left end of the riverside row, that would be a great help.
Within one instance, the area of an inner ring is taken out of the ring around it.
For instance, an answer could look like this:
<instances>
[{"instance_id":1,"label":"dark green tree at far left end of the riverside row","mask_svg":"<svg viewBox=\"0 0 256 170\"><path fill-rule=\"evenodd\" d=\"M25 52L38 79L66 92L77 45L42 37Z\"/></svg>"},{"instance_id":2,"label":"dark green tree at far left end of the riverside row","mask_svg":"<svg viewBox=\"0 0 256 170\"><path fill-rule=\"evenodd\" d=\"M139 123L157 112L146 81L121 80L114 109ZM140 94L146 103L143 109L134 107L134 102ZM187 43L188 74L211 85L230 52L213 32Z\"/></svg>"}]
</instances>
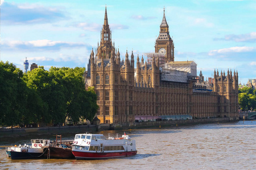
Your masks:
<instances>
[{"instance_id":1,"label":"dark green tree at far left end of the riverside row","mask_svg":"<svg viewBox=\"0 0 256 170\"><path fill-rule=\"evenodd\" d=\"M21 79L21 70L9 62L0 62L0 124L14 126L20 124L26 112L26 84Z\"/></svg>"}]
</instances>

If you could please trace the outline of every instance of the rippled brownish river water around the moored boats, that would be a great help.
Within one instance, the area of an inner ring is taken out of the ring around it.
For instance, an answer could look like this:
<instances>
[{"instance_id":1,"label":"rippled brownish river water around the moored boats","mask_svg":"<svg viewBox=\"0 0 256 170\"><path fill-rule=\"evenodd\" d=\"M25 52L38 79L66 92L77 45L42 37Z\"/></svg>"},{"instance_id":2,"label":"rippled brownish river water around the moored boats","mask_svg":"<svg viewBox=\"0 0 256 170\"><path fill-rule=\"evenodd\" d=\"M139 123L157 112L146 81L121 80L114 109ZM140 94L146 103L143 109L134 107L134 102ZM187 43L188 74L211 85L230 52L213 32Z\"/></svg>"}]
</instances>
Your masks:
<instances>
[{"instance_id":1,"label":"rippled brownish river water around the moored boats","mask_svg":"<svg viewBox=\"0 0 256 170\"><path fill-rule=\"evenodd\" d=\"M108 137L123 131L101 133ZM104 160L11 160L4 146L55 137L0 138L0 169L256 169L256 121L126 130L126 134L136 140L137 155Z\"/></svg>"}]
</instances>

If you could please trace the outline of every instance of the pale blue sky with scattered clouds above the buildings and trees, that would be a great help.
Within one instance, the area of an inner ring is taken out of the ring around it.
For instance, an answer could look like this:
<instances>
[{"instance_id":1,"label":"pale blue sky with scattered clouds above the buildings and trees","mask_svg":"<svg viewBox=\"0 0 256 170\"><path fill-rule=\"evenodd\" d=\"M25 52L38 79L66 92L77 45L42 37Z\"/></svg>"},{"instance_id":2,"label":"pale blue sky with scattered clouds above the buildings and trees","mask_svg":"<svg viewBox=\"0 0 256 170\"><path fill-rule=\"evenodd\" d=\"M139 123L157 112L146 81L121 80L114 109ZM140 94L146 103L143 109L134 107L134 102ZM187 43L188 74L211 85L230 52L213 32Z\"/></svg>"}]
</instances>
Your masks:
<instances>
[{"instance_id":1,"label":"pale blue sky with scattered clouds above the buildings and trees","mask_svg":"<svg viewBox=\"0 0 256 170\"><path fill-rule=\"evenodd\" d=\"M15 0L1 1L1 56L24 70L36 63L86 67L100 40L105 6L121 59L155 52L165 8L175 61L193 60L204 78L237 70L239 82L256 78L255 0ZM145 57L143 57L145 59Z\"/></svg>"}]
</instances>

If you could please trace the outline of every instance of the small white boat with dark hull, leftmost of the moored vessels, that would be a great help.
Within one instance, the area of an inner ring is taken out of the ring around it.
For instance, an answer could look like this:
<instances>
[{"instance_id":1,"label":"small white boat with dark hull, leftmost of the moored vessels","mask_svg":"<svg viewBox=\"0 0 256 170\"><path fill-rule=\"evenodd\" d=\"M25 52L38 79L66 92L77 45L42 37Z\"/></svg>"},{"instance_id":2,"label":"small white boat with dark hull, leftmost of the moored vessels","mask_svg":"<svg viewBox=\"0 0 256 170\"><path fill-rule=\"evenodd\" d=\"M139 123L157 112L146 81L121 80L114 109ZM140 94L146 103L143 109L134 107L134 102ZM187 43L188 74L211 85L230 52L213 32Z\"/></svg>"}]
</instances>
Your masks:
<instances>
[{"instance_id":1,"label":"small white boat with dark hull, leftmost of the moored vessels","mask_svg":"<svg viewBox=\"0 0 256 170\"><path fill-rule=\"evenodd\" d=\"M43 156L42 146L49 146L49 139L31 139L31 146L24 144L23 146L15 145L6 147L6 154L11 159L38 159Z\"/></svg>"}]
</instances>

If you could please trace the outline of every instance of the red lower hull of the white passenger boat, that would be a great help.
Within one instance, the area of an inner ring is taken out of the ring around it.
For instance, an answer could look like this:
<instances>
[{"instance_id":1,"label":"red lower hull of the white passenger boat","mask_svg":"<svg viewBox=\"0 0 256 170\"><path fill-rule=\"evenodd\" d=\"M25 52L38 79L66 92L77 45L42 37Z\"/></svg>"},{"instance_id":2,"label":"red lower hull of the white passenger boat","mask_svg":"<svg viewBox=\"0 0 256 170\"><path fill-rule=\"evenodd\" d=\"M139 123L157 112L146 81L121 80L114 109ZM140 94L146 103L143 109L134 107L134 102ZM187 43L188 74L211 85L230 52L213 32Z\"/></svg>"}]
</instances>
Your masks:
<instances>
[{"instance_id":1,"label":"red lower hull of the white passenger boat","mask_svg":"<svg viewBox=\"0 0 256 170\"><path fill-rule=\"evenodd\" d=\"M137 151L128 152L79 152L73 151L76 159L102 159L102 158L119 158L136 155Z\"/></svg>"}]
</instances>

